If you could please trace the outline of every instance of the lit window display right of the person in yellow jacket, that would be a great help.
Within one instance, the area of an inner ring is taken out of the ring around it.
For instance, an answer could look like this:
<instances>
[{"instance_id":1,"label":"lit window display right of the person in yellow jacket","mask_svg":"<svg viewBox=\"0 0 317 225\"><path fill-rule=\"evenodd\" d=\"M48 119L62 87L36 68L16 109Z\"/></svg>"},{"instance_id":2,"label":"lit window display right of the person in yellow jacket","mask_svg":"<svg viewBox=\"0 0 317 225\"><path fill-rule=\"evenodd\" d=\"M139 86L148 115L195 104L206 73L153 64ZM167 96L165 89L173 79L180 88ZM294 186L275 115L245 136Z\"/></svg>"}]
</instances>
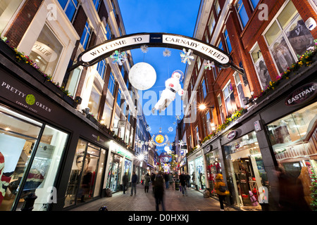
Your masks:
<instances>
[{"instance_id":1,"label":"lit window display right of the person in yellow jacket","mask_svg":"<svg viewBox=\"0 0 317 225\"><path fill-rule=\"evenodd\" d=\"M238 207L261 210L259 197L262 198L263 190L267 190L268 179L255 132L226 144L224 148L233 203Z\"/></svg>"}]
</instances>

